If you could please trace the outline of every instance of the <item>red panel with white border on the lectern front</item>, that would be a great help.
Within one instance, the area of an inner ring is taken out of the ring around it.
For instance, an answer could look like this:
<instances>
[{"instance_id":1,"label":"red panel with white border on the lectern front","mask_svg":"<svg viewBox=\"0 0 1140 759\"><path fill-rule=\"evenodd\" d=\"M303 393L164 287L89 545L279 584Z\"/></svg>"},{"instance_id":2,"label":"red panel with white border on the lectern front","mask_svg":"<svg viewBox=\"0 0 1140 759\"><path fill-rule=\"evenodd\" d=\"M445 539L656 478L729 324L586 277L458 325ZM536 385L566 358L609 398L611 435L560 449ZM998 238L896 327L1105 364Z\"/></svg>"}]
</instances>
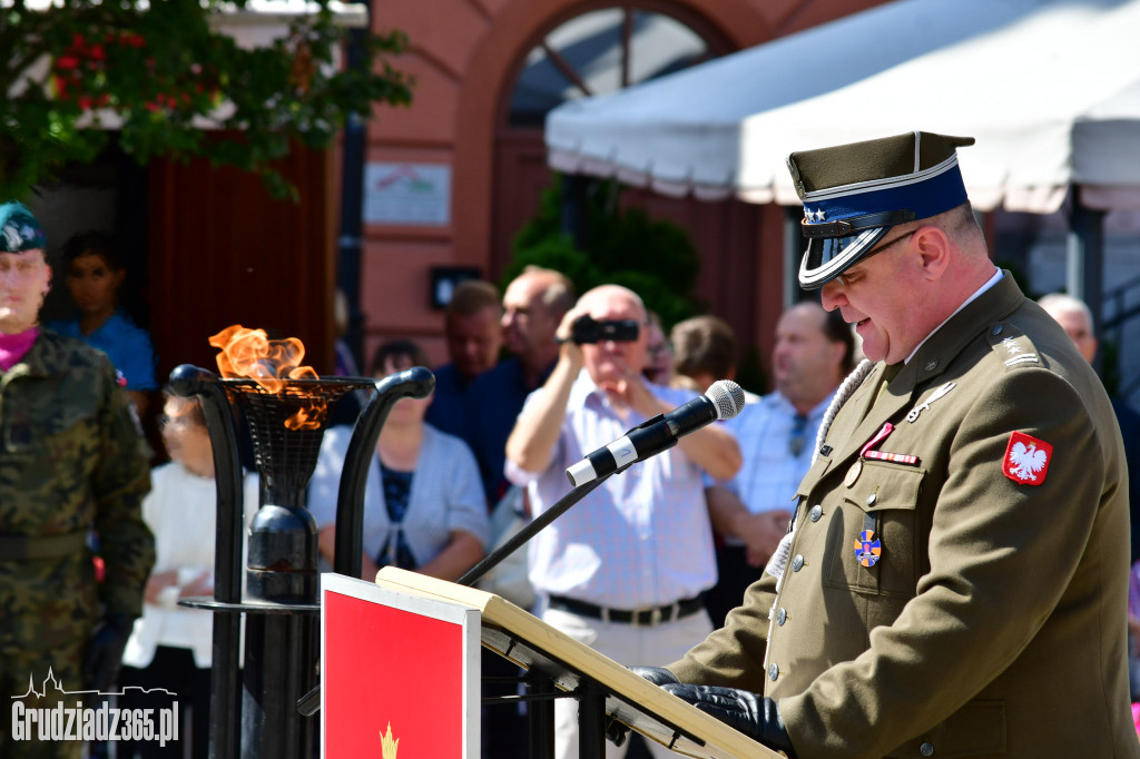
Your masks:
<instances>
[{"instance_id":1,"label":"red panel with white border on the lectern front","mask_svg":"<svg viewBox=\"0 0 1140 759\"><path fill-rule=\"evenodd\" d=\"M479 611L321 576L323 759L479 756Z\"/></svg>"}]
</instances>

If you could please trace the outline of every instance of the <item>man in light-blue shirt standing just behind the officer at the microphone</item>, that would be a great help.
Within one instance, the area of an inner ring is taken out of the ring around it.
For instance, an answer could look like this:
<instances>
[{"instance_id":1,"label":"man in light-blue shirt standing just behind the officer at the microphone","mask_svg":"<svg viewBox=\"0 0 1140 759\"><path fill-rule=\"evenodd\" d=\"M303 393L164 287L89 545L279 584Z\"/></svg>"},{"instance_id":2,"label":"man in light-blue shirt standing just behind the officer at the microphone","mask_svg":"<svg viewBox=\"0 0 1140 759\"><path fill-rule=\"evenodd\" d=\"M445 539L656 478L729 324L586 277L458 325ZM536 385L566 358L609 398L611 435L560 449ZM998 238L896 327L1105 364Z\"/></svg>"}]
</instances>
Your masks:
<instances>
[{"instance_id":1,"label":"man in light-blue shirt standing just behind the officer at the microphone","mask_svg":"<svg viewBox=\"0 0 1140 759\"><path fill-rule=\"evenodd\" d=\"M731 481L705 491L724 542L717 548L716 587L705 596L716 627L760 579L760 568L788 532L791 499L812 464L823 413L853 368L850 328L813 301L784 311L775 338L776 389L727 422L744 465Z\"/></svg>"}]
</instances>

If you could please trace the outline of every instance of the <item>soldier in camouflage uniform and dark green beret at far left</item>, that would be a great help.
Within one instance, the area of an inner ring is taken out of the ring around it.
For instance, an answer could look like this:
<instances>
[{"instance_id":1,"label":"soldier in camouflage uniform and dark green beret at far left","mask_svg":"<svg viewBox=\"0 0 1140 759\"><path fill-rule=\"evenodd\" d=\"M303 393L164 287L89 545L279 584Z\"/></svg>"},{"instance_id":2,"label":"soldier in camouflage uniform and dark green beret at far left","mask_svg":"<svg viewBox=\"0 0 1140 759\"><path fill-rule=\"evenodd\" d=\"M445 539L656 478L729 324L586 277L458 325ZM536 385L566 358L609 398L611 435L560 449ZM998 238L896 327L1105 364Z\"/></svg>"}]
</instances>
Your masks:
<instances>
[{"instance_id":1,"label":"soldier in camouflage uniform and dark green beret at far left","mask_svg":"<svg viewBox=\"0 0 1140 759\"><path fill-rule=\"evenodd\" d=\"M154 539L140 514L147 448L114 367L39 326L51 285L44 244L26 207L0 205L0 693L19 696L30 682L39 692L50 671L58 685L34 707L67 709L78 692L112 686ZM0 711L0 756L80 756L75 740L15 740L13 710Z\"/></svg>"}]
</instances>

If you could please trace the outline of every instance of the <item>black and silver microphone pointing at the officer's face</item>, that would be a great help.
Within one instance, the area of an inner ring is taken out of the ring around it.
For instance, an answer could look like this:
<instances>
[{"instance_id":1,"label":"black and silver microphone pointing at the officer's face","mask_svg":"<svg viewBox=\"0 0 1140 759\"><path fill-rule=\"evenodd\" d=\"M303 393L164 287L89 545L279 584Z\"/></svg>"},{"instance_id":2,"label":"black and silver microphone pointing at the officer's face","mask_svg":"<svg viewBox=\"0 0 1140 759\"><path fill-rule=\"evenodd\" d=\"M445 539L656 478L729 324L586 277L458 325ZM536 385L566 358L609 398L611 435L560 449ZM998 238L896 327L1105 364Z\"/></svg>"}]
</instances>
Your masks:
<instances>
[{"instance_id":1,"label":"black and silver microphone pointing at the officer's face","mask_svg":"<svg viewBox=\"0 0 1140 759\"><path fill-rule=\"evenodd\" d=\"M568 468L567 476L573 487L584 485L668 450L677 444L678 438L716 419L731 419L742 408L744 391L741 386L728 379L718 379L700 398L694 398L668 414L645 419L609 446L598 448Z\"/></svg>"}]
</instances>

